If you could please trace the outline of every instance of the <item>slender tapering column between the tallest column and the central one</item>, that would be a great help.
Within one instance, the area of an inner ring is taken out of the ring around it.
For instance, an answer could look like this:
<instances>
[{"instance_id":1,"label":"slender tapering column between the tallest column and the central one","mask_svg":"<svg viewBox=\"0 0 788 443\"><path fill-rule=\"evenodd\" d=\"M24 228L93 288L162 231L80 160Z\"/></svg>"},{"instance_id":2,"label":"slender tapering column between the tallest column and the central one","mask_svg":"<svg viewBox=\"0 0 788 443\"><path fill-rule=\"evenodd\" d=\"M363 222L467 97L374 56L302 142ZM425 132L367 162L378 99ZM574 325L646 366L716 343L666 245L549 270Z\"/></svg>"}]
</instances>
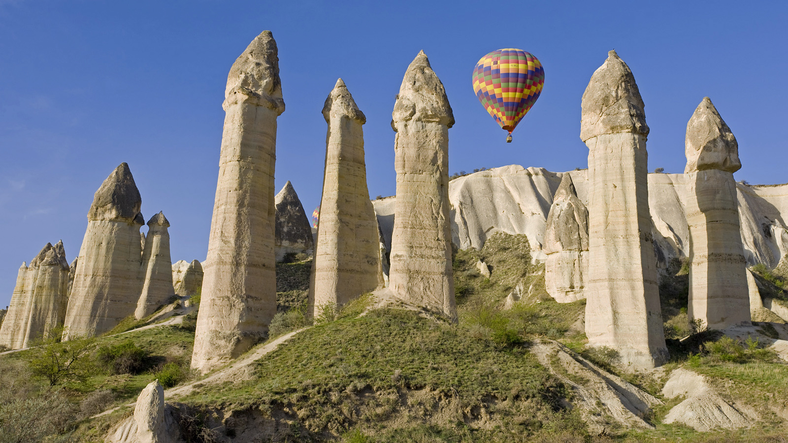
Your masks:
<instances>
[{"instance_id":1,"label":"slender tapering column between the tallest column and the central one","mask_svg":"<svg viewBox=\"0 0 788 443\"><path fill-rule=\"evenodd\" d=\"M341 306L383 285L380 237L366 188L362 129L366 117L342 79L325 99L323 117L329 130L309 292L312 314L321 306Z\"/></svg>"}]
</instances>

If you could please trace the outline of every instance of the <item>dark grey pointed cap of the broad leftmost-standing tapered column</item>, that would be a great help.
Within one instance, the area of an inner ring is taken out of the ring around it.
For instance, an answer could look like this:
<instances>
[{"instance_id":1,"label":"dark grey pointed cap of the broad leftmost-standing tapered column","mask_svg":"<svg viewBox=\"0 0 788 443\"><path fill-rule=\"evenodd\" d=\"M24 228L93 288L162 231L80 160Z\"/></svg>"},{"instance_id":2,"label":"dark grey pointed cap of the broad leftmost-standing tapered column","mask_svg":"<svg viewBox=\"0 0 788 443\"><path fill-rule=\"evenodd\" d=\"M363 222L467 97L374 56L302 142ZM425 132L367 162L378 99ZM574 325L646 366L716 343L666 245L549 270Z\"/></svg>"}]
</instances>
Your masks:
<instances>
[{"instance_id":1,"label":"dark grey pointed cap of the broad leftmost-standing tapered column","mask_svg":"<svg viewBox=\"0 0 788 443\"><path fill-rule=\"evenodd\" d=\"M115 220L136 223L143 199L134 183L132 171L126 163L121 163L93 196L88 220ZM142 225L142 223L139 223Z\"/></svg>"}]
</instances>

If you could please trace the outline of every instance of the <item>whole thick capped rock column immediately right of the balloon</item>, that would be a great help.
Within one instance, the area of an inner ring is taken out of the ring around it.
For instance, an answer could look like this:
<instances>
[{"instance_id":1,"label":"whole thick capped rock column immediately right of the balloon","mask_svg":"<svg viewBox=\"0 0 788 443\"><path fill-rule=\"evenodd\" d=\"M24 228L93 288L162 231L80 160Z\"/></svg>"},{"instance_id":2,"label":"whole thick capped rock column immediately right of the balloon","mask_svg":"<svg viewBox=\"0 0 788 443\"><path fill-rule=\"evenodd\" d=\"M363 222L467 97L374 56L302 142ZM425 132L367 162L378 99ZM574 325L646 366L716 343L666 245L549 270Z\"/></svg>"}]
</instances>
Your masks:
<instances>
[{"instance_id":1,"label":"whole thick capped rock column immediately right of the balloon","mask_svg":"<svg viewBox=\"0 0 788 443\"><path fill-rule=\"evenodd\" d=\"M580 138L589 147L589 277L585 333L637 369L660 366L663 335L649 217L643 100L611 50L582 99Z\"/></svg>"}]
</instances>

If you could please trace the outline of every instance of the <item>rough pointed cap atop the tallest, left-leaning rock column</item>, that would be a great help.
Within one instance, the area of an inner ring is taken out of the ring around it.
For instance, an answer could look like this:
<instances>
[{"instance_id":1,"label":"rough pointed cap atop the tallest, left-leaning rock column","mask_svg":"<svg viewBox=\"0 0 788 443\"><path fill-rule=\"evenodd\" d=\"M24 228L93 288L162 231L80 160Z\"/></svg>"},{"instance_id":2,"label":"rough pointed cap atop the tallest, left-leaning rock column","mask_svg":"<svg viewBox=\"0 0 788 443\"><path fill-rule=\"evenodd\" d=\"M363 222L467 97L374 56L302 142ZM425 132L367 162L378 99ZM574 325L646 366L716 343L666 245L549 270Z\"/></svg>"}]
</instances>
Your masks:
<instances>
[{"instance_id":1,"label":"rough pointed cap atop the tallest, left-leaning rock column","mask_svg":"<svg viewBox=\"0 0 788 443\"><path fill-rule=\"evenodd\" d=\"M236 102L266 106L277 115L284 112L277 42L270 31L255 37L230 68L223 107L227 110Z\"/></svg>"}]
</instances>

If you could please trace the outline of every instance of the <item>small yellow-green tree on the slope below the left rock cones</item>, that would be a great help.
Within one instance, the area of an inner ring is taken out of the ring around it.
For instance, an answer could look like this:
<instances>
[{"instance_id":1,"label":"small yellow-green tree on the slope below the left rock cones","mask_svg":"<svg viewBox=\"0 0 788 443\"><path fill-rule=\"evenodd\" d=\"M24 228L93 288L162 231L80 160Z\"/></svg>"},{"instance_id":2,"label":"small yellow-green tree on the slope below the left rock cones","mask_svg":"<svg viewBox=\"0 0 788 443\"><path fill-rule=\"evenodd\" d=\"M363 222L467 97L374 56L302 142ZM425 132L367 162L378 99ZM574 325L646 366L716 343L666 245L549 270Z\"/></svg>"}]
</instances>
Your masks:
<instances>
[{"instance_id":1,"label":"small yellow-green tree on the slope below the left rock cones","mask_svg":"<svg viewBox=\"0 0 788 443\"><path fill-rule=\"evenodd\" d=\"M45 378L50 386L87 378L93 366L91 353L95 339L76 337L69 341L58 340L49 337L41 342L38 354L30 361L32 374Z\"/></svg>"}]
</instances>

